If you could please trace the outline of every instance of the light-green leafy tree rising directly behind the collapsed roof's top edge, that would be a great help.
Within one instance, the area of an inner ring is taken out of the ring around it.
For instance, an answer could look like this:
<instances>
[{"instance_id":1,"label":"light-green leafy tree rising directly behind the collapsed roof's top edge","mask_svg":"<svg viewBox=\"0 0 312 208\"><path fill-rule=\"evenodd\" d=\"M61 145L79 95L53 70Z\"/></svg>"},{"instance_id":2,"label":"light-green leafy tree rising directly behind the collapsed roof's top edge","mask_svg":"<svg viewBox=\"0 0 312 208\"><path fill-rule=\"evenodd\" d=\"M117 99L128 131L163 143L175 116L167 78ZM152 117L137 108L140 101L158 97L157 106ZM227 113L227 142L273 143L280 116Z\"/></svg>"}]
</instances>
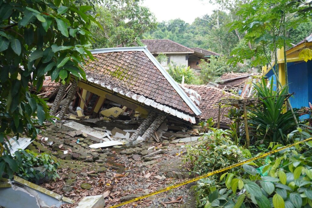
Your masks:
<instances>
[{"instance_id":1,"label":"light-green leafy tree rising directly behind the collapsed roof's top edge","mask_svg":"<svg viewBox=\"0 0 312 208\"><path fill-rule=\"evenodd\" d=\"M141 45L143 34L156 28L156 19L141 0L107 0L95 7L96 20L104 30L93 24L94 48Z\"/></svg>"}]
</instances>

